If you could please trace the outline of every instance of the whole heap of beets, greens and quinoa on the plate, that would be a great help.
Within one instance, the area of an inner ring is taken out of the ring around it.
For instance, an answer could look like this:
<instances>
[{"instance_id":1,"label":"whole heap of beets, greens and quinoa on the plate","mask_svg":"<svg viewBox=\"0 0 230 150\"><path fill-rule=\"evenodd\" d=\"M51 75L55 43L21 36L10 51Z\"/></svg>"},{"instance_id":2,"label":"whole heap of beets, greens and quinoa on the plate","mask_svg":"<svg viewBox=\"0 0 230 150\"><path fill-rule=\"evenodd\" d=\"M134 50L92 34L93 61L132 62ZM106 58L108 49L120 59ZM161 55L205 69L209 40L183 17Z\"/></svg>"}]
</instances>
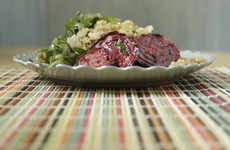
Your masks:
<instances>
[{"instance_id":1,"label":"whole heap of beets, greens and quinoa on the plate","mask_svg":"<svg viewBox=\"0 0 230 150\"><path fill-rule=\"evenodd\" d=\"M65 34L55 37L47 49L36 52L34 62L93 67L171 66L203 60L180 57L179 49L165 36L152 33L153 26L138 27L130 20L78 12L67 20Z\"/></svg>"}]
</instances>

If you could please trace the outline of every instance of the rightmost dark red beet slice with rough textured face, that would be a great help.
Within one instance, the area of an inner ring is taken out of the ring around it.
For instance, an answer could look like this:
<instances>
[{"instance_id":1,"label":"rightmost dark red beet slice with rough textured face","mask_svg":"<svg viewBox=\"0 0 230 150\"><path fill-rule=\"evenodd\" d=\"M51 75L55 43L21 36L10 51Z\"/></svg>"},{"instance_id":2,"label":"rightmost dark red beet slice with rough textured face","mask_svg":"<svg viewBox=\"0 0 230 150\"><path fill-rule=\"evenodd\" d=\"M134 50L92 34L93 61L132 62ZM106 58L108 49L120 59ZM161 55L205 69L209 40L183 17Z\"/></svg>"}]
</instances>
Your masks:
<instances>
[{"instance_id":1,"label":"rightmost dark red beet slice with rough textured face","mask_svg":"<svg viewBox=\"0 0 230 150\"><path fill-rule=\"evenodd\" d=\"M178 48L161 34L145 34L135 38L139 47L137 61L143 66L166 66L180 57Z\"/></svg>"}]
</instances>

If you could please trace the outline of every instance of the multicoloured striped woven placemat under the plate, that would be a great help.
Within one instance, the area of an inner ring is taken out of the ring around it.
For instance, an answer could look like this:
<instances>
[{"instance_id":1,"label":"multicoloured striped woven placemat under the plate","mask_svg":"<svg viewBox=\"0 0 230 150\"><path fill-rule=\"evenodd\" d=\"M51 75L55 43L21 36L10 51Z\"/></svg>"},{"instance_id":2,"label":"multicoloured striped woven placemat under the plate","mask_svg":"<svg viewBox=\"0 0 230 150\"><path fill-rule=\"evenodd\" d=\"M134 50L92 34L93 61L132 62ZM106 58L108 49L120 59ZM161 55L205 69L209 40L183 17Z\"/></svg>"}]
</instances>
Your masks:
<instances>
[{"instance_id":1,"label":"multicoloured striped woven placemat under the plate","mask_svg":"<svg viewBox=\"0 0 230 150\"><path fill-rule=\"evenodd\" d=\"M230 68L129 89L0 69L0 149L230 149Z\"/></svg>"}]
</instances>

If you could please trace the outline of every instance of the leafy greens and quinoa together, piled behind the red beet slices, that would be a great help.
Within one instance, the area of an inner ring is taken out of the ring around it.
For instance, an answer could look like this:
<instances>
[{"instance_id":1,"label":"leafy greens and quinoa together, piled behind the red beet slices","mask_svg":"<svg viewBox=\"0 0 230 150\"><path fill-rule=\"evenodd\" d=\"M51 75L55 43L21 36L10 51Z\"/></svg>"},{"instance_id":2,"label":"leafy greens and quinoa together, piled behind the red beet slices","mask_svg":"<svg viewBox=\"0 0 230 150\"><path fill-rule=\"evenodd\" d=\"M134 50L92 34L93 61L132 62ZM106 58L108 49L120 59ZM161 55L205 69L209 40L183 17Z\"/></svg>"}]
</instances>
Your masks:
<instances>
[{"instance_id":1,"label":"leafy greens and quinoa together, piled behind the red beet slices","mask_svg":"<svg viewBox=\"0 0 230 150\"><path fill-rule=\"evenodd\" d=\"M151 33L153 27L150 25L142 28L134 25L130 20L123 21L111 16L103 17L99 13L84 15L78 12L75 17L67 20L65 29L65 34L55 37L49 48L41 49L36 53L33 60L35 63L48 63L47 69L57 64L76 66L76 60L107 33L117 31L133 38ZM120 47L122 43L116 45Z\"/></svg>"}]
</instances>

